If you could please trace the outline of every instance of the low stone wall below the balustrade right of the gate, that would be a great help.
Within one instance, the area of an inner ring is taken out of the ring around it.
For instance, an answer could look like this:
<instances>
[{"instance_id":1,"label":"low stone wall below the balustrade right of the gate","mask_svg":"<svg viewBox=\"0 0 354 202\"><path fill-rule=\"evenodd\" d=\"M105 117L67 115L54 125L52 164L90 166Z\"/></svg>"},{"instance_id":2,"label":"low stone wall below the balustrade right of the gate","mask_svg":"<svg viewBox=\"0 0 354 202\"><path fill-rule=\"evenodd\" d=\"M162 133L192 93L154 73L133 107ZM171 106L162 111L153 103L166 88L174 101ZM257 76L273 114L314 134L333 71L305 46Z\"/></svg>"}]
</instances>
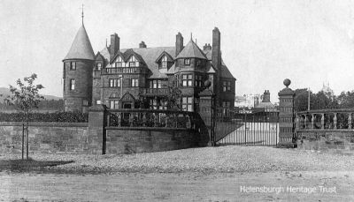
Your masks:
<instances>
[{"instance_id":1,"label":"low stone wall below the balustrade right of the gate","mask_svg":"<svg viewBox=\"0 0 354 202\"><path fill-rule=\"evenodd\" d=\"M297 147L326 153L354 154L354 131L306 130L297 131Z\"/></svg>"}]
</instances>

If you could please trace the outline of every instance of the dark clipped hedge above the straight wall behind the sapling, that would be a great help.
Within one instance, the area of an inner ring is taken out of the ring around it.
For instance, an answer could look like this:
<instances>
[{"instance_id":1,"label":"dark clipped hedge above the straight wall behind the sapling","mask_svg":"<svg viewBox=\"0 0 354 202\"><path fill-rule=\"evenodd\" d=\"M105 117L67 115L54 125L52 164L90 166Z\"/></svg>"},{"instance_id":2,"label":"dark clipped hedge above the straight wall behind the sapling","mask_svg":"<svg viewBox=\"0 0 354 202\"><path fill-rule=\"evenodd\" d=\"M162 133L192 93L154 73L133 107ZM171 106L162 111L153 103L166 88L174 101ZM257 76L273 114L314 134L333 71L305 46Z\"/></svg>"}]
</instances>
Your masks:
<instances>
[{"instance_id":1,"label":"dark clipped hedge above the straight wall behind the sapling","mask_svg":"<svg viewBox=\"0 0 354 202\"><path fill-rule=\"evenodd\" d=\"M22 122L23 113L0 113L0 122ZM81 112L31 113L29 122L87 123L89 115Z\"/></svg>"}]
</instances>

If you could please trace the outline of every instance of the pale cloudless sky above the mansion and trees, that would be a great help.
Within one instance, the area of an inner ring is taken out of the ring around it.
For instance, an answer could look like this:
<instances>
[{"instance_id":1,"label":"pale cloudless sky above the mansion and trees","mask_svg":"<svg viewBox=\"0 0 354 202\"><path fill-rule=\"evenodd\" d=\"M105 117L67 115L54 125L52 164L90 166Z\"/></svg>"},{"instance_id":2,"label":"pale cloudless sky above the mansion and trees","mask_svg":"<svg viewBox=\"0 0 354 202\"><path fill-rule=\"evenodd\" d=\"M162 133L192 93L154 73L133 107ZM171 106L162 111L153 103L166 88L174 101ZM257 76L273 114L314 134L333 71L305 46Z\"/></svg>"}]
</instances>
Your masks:
<instances>
[{"instance_id":1,"label":"pale cloudless sky above the mansion and trees","mask_svg":"<svg viewBox=\"0 0 354 202\"><path fill-rule=\"evenodd\" d=\"M198 46L221 33L222 57L236 94L271 93L323 83L340 94L354 90L354 1L105 0L0 1L0 86L37 73L42 94L62 96L62 60L84 24L95 53L119 34L120 48L174 46L178 32Z\"/></svg>"}]
</instances>

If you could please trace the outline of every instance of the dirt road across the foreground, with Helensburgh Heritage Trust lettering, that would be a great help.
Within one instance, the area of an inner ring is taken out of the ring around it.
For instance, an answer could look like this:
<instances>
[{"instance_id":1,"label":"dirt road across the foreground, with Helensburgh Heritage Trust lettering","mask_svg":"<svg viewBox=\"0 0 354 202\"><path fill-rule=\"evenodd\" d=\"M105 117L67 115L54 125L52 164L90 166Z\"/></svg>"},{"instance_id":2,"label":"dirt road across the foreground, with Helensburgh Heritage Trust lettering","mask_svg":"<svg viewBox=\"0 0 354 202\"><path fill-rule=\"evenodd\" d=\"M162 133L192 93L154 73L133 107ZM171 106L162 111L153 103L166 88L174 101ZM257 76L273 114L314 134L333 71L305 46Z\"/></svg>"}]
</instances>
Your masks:
<instances>
[{"instance_id":1,"label":"dirt road across the foreground, with Helensburgh Heritage Trust lettering","mask_svg":"<svg viewBox=\"0 0 354 202\"><path fill-rule=\"evenodd\" d=\"M354 171L112 176L2 172L0 201L354 201L353 184Z\"/></svg>"}]
</instances>

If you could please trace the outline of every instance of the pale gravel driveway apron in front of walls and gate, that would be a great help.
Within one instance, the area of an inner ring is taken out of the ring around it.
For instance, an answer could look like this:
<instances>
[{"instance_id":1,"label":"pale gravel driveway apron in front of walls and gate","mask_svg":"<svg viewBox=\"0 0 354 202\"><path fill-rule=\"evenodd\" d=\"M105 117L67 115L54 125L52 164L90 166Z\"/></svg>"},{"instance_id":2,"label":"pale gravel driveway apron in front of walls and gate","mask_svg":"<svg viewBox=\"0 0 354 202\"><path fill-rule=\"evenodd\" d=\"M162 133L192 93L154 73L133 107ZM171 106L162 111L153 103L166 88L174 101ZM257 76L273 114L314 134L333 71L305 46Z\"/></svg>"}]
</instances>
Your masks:
<instances>
[{"instance_id":1,"label":"pale gravel driveway apron in front of walls and gate","mask_svg":"<svg viewBox=\"0 0 354 202\"><path fill-rule=\"evenodd\" d=\"M65 173L235 173L353 170L354 158L267 146L219 146L125 155L33 154L37 161L74 161L42 169ZM0 155L1 159L16 159Z\"/></svg>"}]
</instances>

